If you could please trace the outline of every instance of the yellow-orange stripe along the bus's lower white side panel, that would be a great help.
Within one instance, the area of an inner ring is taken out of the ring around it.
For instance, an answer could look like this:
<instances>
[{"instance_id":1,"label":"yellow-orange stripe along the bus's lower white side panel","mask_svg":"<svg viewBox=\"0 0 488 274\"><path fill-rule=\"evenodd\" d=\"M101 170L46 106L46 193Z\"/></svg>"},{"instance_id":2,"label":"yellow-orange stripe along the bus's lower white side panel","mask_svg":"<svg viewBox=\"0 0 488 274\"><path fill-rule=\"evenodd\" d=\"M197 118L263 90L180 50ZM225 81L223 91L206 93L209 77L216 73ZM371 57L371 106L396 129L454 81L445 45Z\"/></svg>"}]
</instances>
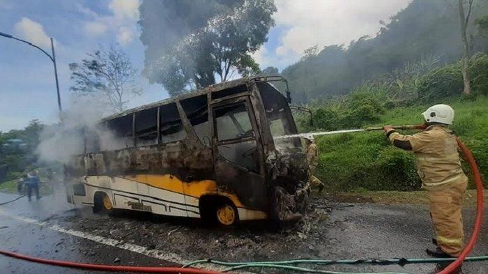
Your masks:
<instances>
[{"instance_id":1,"label":"yellow-orange stripe along the bus's lower white side panel","mask_svg":"<svg viewBox=\"0 0 488 274\"><path fill-rule=\"evenodd\" d=\"M137 181L150 185L154 188L169 190L183 195L200 198L203 195L215 194L222 195L231 199L237 207L244 207L236 195L218 190L217 183L213 180L184 182L171 174L137 174L135 176L125 176L130 181Z\"/></svg>"}]
</instances>

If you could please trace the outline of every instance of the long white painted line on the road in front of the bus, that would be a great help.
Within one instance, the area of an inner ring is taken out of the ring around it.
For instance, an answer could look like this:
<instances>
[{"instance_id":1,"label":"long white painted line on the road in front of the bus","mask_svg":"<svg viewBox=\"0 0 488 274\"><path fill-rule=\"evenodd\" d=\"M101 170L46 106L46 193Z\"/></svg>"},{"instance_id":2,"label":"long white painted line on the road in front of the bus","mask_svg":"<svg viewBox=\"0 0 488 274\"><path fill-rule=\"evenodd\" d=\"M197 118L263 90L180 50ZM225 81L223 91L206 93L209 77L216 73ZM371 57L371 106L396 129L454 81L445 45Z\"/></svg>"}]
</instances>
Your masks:
<instances>
[{"instance_id":1,"label":"long white painted line on the road in front of the bus","mask_svg":"<svg viewBox=\"0 0 488 274\"><path fill-rule=\"evenodd\" d=\"M54 231L58 231L64 234L68 234L71 236L76 236L78 238L84 238L86 240L94 241L96 243L101 243L103 245L109 245L113 246L115 248L120 248L122 250L128 250L130 252L135 252L138 254L143 254L148 257L153 257L155 259L161 259L163 261L169 261L174 264L188 264L190 261L183 259L180 257L178 254L170 253L170 252L165 252L162 250L155 250L151 249L149 250L148 248L142 246L142 245L136 245L133 243L124 243L123 241L115 240L112 238L105 238L103 236L97 236L93 234L89 234L83 231L77 231L73 229L65 229L63 227L60 227L57 224L49 225L47 222L39 221L39 220L34 220L32 218L26 218L22 216L16 216L16 215L11 215L10 213L6 213L5 211L2 211L0 209L0 215L4 215L8 218L13 218L15 220L20 220L21 222L26 222L29 224L36 224L40 227L46 227L48 229L52 229ZM194 265L196 266L196 265ZM226 266L218 266L218 265L205 265L205 268L208 270L213 270L213 271L223 271ZM244 272L244 271L238 271L234 273L250 273L250 272ZM251 274L251 273L250 273Z\"/></svg>"}]
</instances>

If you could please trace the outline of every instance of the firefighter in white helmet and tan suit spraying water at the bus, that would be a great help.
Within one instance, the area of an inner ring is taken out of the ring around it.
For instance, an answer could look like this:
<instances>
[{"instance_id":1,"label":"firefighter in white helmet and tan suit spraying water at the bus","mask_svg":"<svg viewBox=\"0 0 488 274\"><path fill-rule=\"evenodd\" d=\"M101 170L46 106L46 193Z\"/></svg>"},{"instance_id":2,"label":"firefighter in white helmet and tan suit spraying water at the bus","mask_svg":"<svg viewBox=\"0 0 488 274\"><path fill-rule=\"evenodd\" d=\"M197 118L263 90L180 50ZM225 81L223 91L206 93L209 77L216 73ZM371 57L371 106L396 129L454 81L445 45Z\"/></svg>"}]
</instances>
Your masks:
<instances>
[{"instance_id":1,"label":"firefighter in white helmet and tan suit spraying water at the bus","mask_svg":"<svg viewBox=\"0 0 488 274\"><path fill-rule=\"evenodd\" d=\"M429 210L434 223L435 250L427 249L432 257L458 257L464 246L461 215L462 197L468 185L464 174L456 137L448 125L454 119L454 109L434 105L422 113L426 128L414 135L401 135L385 125L386 137L394 146L415 153L417 173L422 188L427 190Z\"/></svg>"}]
</instances>

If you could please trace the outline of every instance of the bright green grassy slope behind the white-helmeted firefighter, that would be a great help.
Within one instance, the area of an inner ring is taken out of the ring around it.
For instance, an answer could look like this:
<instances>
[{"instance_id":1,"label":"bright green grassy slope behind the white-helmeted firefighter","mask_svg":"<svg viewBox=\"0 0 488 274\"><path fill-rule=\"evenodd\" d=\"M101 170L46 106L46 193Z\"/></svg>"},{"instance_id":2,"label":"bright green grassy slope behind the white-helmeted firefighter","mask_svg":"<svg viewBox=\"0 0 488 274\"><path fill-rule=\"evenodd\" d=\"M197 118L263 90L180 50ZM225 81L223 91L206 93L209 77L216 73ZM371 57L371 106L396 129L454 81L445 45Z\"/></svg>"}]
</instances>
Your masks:
<instances>
[{"instance_id":1,"label":"bright green grassy slope behind the white-helmeted firefighter","mask_svg":"<svg viewBox=\"0 0 488 274\"><path fill-rule=\"evenodd\" d=\"M451 105L456 112L452 130L471 149L482 176L488 178L487 96L470 100L450 99L444 103ZM371 126L422 123L420 114L427 107L429 105L425 104L388 109L379 123ZM323 135L317 137L317 145L320 155L316 175L326 184L328 191L350 191L356 188L420 190L413 153L391 146L381 131ZM466 174L469 174L466 163L464 165Z\"/></svg>"}]
</instances>

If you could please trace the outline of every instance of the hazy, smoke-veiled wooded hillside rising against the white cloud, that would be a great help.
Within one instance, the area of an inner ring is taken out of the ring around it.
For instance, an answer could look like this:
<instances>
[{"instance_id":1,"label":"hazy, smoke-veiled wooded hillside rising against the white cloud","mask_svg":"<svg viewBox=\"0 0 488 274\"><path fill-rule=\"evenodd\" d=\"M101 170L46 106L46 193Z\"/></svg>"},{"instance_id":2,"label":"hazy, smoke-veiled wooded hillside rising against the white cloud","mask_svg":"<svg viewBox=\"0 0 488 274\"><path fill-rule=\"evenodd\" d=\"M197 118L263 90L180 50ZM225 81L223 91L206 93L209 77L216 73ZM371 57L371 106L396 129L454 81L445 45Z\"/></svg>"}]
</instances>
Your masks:
<instances>
[{"instance_id":1,"label":"hazy, smoke-veiled wooded hillside rising against the white cloud","mask_svg":"<svg viewBox=\"0 0 488 274\"><path fill-rule=\"evenodd\" d=\"M413 0L390 23L383 23L374 38L364 36L347 47L311 47L302 60L282 71L293 101L346 94L366 81L402 70L408 63L436 61L439 66L457 61L462 56L457 7L457 0ZM468 24L471 52L488 50L487 14L488 1L473 3Z\"/></svg>"}]
</instances>

